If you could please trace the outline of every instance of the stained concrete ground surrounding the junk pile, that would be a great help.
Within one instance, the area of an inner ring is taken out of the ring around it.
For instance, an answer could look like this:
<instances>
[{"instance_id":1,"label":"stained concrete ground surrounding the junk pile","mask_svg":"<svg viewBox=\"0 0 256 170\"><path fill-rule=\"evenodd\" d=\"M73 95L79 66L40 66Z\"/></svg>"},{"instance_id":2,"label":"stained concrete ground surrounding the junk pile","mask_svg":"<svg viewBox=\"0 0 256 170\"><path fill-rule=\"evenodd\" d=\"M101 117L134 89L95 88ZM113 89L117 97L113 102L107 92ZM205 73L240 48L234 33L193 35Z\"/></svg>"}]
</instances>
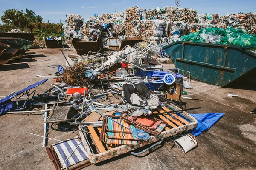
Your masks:
<instances>
[{"instance_id":1,"label":"stained concrete ground surrounding the junk pile","mask_svg":"<svg viewBox=\"0 0 256 170\"><path fill-rule=\"evenodd\" d=\"M64 51L64 54L73 53ZM0 96L19 91L28 85L45 79L35 75L56 72L50 65L65 65L59 49L33 49L21 59L0 65ZM214 77L213 77L214 78ZM51 87L49 80L36 88L37 93ZM203 101L183 100L188 108L201 107L189 113L225 113L209 131L197 137L198 147L189 153L182 153L173 143L155 148L143 156L129 153L85 170L250 170L256 169L256 115L250 111L256 108L256 91L221 88L202 82L191 81L192 89L186 89L189 97ZM227 94L238 94L228 97ZM43 135L41 113L28 115L6 114L0 116L0 170L54 170L42 138L29 133ZM72 132L49 130L49 137L58 140L77 136ZM49 140L48 146L56 141Z\"/></svg>"}]
</instances>

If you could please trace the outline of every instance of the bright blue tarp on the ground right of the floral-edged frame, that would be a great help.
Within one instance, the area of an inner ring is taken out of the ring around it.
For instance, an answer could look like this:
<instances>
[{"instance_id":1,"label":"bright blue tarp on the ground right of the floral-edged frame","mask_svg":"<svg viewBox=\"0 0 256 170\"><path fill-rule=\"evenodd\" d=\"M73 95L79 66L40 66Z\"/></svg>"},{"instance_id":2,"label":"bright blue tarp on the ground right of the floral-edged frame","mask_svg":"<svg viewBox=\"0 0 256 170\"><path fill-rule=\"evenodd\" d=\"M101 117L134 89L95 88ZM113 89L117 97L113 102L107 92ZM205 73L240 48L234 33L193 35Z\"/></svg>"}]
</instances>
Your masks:
<instances>
[{"instance_id":1,"label":"bright blue tarp on the ground right of the floral-edged frame","mask_svg":"<svg viewBox=\"0 0 256 170\"><path fill-rule=\"evenodd\" d=\"M198 125L193 132L190 132L195 137L201 133L210 129L222 116L224 113L203 113L203 114L190 114L195 117L198 121Z\"/></svg>"}]
</instances>

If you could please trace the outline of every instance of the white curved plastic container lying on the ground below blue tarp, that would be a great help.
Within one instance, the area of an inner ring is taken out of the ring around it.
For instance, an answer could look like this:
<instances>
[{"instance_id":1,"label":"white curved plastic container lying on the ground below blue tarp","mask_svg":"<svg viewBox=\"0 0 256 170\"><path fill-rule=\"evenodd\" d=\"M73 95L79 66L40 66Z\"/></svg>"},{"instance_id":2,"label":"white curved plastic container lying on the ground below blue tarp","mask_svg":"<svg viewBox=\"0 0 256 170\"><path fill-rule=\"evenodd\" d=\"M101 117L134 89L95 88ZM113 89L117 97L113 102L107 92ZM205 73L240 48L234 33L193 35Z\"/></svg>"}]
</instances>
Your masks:
<instances>
[{"instance_id":1,"label":"white curved plastic container lying on the ground below blue tarp","mask_svg":"<svg viewBox=\"0 0 256 170\"><path fill-rule=\"evenodd\" d=\"M187 153L189 150L192 150L197 146L195 136L192 134L176 139L174 143L183 151L183 153Z\"/></svg>"}]
</instances>

